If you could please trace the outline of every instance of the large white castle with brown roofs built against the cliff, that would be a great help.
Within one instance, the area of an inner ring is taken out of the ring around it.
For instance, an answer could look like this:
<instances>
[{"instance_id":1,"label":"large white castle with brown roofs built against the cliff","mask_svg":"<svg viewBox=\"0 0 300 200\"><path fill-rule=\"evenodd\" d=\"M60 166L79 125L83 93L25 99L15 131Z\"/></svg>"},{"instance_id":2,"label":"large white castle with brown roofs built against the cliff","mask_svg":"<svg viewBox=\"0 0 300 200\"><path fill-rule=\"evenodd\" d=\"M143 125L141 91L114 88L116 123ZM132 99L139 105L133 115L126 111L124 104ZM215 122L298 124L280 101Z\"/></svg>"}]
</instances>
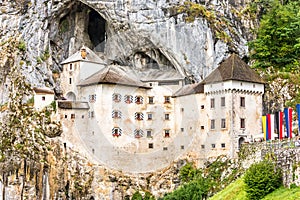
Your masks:
<instances>
[{"instance_id":1,"label":"large white castle with brown roofs built against the cliff","mask_svg":"<svg viewBox=\"0 0 300 200\"><path fill-rule=\"evenodd\" d=\"M173 68L108 65L87 47L61 64L63 137L109 167L148 172L181 156L199 165L234 158L261 134L264 83L235 54L194 84Z\"/></svg>"}]
</instances>

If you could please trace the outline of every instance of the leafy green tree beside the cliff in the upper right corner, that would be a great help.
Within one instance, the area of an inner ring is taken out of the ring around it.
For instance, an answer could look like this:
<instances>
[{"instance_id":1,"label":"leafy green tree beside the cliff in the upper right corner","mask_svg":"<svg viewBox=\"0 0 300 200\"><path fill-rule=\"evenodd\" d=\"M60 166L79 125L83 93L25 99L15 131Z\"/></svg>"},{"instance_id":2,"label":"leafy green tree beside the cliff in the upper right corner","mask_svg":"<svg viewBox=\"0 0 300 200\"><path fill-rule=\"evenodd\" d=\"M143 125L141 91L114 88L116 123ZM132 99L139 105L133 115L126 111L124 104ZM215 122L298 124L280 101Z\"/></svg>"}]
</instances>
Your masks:
<instances>
[{"instance_id":1,"label":"leafy green tree beside the cliff in the upper right corner","mask_svg":"<svg viewBox=\"0 0 300 200\"><path fill-rule=\"evenodd\" d=\"M300 2L274 0L263 15L257 39L249 43L260 68L293 71L300 67Z\"/></svg>"}]
</instances>

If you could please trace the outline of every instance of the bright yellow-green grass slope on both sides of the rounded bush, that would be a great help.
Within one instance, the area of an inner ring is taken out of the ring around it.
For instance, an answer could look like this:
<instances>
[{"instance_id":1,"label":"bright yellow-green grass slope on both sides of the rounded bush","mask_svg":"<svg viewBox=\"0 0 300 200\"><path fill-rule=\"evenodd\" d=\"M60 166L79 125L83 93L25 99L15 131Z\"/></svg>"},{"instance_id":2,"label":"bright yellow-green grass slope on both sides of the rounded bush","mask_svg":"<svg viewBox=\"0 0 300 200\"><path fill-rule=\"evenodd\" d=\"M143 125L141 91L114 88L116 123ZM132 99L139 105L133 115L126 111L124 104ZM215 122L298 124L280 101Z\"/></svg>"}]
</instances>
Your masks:
<instances>
[{"instance_id":1,"label":"bright yellow-green grass slope on both sides of the rounded bush","mask_svg":"<svg viewBox=\"0 0 300 200\"><path fill-rule=\"evenodd\" d=\"M244 181L239 178L224 190L209 198L209 200L247 200L244 188ZM262 200L300 200L300 187L293 189L279 188Z\"/></svg>"}]
</instances>

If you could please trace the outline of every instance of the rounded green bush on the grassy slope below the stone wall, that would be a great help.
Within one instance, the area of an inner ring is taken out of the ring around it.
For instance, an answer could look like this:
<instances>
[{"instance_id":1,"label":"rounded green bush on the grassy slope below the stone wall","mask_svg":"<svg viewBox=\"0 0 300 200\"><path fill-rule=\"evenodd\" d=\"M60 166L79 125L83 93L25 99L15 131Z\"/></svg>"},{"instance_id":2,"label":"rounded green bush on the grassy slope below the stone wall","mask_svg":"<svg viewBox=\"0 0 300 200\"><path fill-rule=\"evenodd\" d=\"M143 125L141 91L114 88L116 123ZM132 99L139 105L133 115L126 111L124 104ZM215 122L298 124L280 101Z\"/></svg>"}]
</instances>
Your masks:
<instances>
[{"instance_id":1,"label":"rounded green bush on the grassy slope below the stone wall","mask_svg":"<svg viewBox=\"0 0 300 200\"><path fill-rule=\"evenodd\" d=\"M247 197L261 199L282 185L282 175L272 162L265 160L250 166L244 182Z\"/></svg>"}]
</instances>

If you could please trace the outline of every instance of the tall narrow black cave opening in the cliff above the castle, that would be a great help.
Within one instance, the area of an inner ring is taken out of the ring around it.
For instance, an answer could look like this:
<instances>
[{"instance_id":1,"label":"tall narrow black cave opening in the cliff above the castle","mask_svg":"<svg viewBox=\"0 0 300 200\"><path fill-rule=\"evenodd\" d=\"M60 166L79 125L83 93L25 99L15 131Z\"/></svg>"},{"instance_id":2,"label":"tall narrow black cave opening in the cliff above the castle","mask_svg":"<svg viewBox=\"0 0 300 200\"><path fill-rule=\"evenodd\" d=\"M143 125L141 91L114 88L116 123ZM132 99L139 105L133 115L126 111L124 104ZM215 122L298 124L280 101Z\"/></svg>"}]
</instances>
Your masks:
<instances>
[{"instance_id":1,"label":"tall narrow black cave opening in the cliff above the castle","mask_svg":"<svg viewBox=\"0 0 300 200\"><path fill-rule=\"evenodd\" d=\"M89 12L88 35L95 51L104 52L106 42L106 21L95 10Z\"/></svg>"}]
</instances>

